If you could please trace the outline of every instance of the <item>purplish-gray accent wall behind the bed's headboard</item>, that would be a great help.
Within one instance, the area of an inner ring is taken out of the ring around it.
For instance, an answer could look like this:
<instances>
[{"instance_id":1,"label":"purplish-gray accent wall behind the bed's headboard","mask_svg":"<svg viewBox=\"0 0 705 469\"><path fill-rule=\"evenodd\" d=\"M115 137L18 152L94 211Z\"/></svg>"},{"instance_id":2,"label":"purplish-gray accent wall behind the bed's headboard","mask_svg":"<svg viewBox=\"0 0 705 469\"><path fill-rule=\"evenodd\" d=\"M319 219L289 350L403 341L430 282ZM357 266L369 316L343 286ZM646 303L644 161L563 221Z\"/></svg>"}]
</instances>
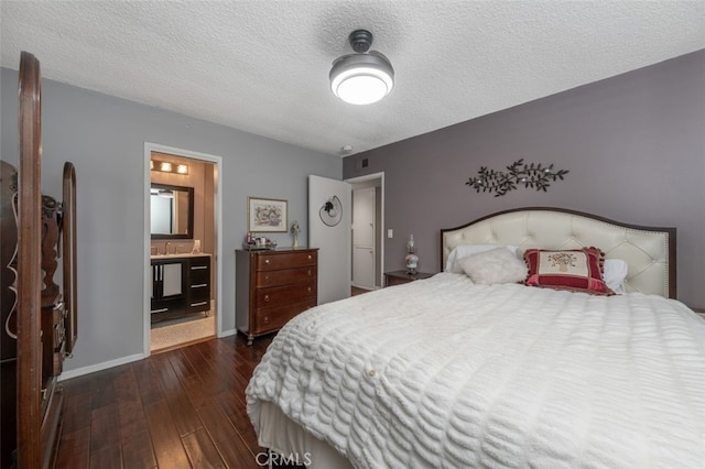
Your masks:
<instances>
[{"instance_id":1,"label":"purplish-gray accent wall behind the bed's headboard","mask_svg":"<svg viewBox=\"0 0 705 469\"><path fill-rule=\"evenodd\" d=\"M367 168L358 170L362 159ZM502 197L465 185L516 160L570 171L547 193ZM679 298L705 307L705 51L348 156L345 178L384 172L384 268L413 232L422 271L440 270L440 228L498 210L554 206L677 228Z\"/></svg>"}]
</instances>

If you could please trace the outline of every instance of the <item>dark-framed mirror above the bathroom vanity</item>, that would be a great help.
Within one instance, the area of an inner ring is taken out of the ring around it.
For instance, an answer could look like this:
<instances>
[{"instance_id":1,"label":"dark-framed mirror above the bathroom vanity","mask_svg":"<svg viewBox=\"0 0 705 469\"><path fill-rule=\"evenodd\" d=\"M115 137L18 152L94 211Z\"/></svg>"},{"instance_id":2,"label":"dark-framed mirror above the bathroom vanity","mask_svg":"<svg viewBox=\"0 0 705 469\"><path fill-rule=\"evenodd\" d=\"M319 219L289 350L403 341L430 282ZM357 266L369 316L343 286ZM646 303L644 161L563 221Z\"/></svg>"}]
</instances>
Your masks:
<instances>
[{"instance_id":1,"label":"dark-framed mirror above the bathroom vanity","mask_svg":"<svg viewBox=\"0 0 705 469\"><path fill-rule=\"evenodd\" d=\"M152 183L150 201L152 239L193 239L193 187Z\"/></svg>"}]
</instances>

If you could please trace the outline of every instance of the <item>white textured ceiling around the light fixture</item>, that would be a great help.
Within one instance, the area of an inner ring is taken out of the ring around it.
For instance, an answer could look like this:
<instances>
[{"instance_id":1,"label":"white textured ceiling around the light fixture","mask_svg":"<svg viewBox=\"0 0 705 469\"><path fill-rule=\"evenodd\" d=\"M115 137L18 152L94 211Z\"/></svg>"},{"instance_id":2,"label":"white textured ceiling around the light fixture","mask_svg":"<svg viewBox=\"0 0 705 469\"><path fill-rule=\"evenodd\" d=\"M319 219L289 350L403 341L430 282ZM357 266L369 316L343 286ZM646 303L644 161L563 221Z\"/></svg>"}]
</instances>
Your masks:
<instances>
[{"instance_id":1,"label":"white textured ceiling around the light fixture","mask_svg":"<svg viewBox=\"0 0 705 469\"><path fill-rule=\"evenodd\" d=\"M705 1L8 1L1 65L343 155L705 48ZM333 96L368 29L382 101Z\"/></svg>"}]
</instances>

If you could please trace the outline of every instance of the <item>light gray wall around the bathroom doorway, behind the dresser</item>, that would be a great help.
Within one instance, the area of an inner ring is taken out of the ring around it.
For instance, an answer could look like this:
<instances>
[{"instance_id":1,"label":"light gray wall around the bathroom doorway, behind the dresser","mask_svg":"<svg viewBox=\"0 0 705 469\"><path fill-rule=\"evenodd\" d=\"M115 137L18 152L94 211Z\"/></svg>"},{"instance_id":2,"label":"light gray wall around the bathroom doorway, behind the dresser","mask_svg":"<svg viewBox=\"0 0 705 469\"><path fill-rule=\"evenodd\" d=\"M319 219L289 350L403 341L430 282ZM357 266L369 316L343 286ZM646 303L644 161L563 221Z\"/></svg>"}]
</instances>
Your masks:
<instances>
[{"instance_id":1,"label":"light gray wall around the bathroom doorway, behind the dresser","mask_svg":"<svg viewBox=\"0 0 705 469\"><path fill-rule=\"evenodd\" d=\"M17 166L15 70L1 70L0 88L1 156ZM247 197L288 199L306 239L306 176L341 175L338 156L47 79L42 107L42 192L61 199L65 161L77 174L79 334L67 370L142 353L144 142L223 157L224 330L235 329L234 251L247 231ZM289 234L272 238L291 244Z\"/></svg>"}]
</instances>

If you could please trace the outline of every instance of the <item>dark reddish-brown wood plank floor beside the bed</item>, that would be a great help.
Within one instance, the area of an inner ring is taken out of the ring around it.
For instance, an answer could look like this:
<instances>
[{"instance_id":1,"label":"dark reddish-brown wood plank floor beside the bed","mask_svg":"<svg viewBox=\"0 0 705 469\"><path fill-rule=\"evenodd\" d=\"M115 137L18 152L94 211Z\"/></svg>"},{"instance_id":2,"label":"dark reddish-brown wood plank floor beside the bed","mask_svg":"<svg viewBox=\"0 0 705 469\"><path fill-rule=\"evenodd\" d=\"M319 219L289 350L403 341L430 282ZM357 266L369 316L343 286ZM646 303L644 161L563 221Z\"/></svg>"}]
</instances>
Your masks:
<instances>
[{"instance_id":1,"label":"dark reddish-brown wood plank floor beside the bed","mask_svg":"<svg viewBox=\"0 0 705 469\"><path fill-rule=\"evenodd\" d=\"M260 468L245 388L272 336L240 335L63 382L56 468Z\"/></svg>"}]
</instances>

